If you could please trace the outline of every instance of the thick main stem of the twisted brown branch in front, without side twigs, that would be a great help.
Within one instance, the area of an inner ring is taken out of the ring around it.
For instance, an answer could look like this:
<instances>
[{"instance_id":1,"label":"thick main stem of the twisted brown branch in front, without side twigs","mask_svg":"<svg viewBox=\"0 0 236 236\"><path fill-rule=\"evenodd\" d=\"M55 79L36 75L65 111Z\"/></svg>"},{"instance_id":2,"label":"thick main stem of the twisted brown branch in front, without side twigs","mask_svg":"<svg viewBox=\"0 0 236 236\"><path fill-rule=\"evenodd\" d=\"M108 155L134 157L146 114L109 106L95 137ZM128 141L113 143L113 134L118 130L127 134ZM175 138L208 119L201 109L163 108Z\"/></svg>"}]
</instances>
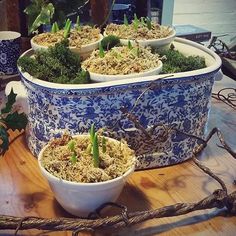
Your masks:
<instances>
[{"instance_id":1,"label":"thick main stem of the twisted brown branch in front, without side twigs","mask_svg":"<svg viewBox=\"0 0 236 236\"><path fill-rule=\"evenodd\" d=\"M230 214L236 215L236 191L227 195L222 189L217 189L210 196L196 203L177 203L156 210L127 213L127 219L115 215L101 219L56 218L44 219L38 217L0 216L0 229L39 229L53 231L91 231L106 228L124 228L154 218L185 215L193 211L226 207Z\"/></svg>"}]
</instances>

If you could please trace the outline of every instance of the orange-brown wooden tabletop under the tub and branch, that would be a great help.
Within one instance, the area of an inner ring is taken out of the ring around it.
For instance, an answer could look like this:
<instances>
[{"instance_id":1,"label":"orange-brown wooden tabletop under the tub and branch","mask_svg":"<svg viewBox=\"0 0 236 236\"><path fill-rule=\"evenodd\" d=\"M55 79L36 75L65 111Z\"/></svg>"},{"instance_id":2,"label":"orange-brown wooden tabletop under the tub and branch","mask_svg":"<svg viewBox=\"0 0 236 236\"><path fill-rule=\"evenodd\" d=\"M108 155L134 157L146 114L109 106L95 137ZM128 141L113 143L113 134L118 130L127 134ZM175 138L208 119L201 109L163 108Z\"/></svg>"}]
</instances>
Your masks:
<instances>
[{"instance_id":1,"label":"orange-brown wooden tabletop under the tub and branch","mask_svg":"<svg viewBox=\"0 0 236 236\"><path fill-rule=\"evenodd\" d=\"M216 82L214 91L222 87L236 88L236 82L224 77ZM212 99L209 130L217 126L228 144L236 151L236 111L226 104ZM18 133L12 133L11 138ZM227 185L229 192L236 190L236 160L216 146L216 138L210 142L200 160L210 167ZM220 186L192 160L182 164L135 172L125 186L118 202L129 211L159 208L177 202L196 202ZM59 217L69 216L56 202L42 177L37 160L28 150L24 136L13 141L9 151L0 159L0 214L15 216ZM13 235L13 231L1 231L0 235ZM154 219L115 235L236 235L236 217L225 217L224 210L205 210L184 216ZM20 235L71 235L69 232L42 233L38 230L21 231ZM82 235L88 235L86 233ZM101 235L111 235L102 233Z\"/></svg>"}]
</instances>

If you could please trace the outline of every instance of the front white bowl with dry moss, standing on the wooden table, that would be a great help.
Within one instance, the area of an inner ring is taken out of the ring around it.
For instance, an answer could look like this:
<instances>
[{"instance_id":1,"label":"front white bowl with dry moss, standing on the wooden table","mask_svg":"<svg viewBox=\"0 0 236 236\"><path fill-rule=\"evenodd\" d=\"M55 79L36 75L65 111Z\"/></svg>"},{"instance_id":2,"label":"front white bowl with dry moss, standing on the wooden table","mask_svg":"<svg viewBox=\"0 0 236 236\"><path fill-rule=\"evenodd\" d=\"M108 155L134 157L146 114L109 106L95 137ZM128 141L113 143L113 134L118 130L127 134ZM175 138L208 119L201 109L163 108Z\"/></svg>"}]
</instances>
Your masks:
<instances>
[{"instance_id":1,"label":"front white bowl with dry moss, standing on the wooden table","mask_svg":"<svg viewBox=\"0 0 236 236\"><path fill-rule=\"evenodd\" d=\"M134 171L135 156L128 145L103 140L98 136L98 162L91 153L89 135L64 135L39 153L40 170L55 198L73 215L86 217L101 204L116 201Z\"/></svg>"}]
</instances>

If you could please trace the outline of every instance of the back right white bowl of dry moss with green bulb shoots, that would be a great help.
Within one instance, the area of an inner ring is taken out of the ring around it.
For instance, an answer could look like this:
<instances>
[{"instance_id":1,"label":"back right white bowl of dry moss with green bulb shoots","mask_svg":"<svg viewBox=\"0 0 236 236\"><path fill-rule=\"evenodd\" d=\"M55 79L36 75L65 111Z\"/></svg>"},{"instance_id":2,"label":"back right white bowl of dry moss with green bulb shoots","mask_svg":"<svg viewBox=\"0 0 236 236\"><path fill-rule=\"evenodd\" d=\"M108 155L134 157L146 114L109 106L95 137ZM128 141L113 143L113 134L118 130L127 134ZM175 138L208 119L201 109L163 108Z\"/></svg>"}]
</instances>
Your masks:
<instances>
[{"instance_id":1,"label":"back right white bowl of dry moss with green bulb shoots","mask_svg":"<svg viewBox=\"0 0 236 236\"><path fill-rule=\"evenodd\" d=\"M175 30L169 26L159 25L152 22L148 17L137 18L131 24L128 23L124 15L124 24L109 24L105 28L104 35L115 35L121 39L121 43L127 45L129 41L132 44L138 43L142 46L164 47L170 45L175 38Z\"/></svg>"}]
</instances>

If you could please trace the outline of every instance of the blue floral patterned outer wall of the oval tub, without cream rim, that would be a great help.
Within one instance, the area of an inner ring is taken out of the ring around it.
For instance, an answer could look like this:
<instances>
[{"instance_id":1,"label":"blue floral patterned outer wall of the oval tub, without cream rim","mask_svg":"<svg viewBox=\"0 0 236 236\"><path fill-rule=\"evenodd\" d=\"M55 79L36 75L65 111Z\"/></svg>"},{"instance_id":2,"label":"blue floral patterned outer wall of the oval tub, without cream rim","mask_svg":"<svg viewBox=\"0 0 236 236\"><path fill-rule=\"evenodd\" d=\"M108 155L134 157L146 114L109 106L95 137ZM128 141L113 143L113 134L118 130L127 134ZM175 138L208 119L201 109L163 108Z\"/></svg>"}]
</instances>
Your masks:
<instances>
[{"instance_id":1,"label":"blue floral patterned outer wall of the oval tub, without cream rim","mask_svg":"<svg viewBox=\"0 0 236 236\"><path fill-rule=\"evenodd\" d=\"M174 126L184 132L203 137L209 97L214 76L208 74L199 78L158 80L147 91L133 110L144 127L155 124ZM127 86L107 87L97 90L67 90L33 88L27 84L30 106L29 145L37 155L45 142L64 129L73 134L87 132L92 123L100 127L114 127L118 119L120 126L115 127L115 138L125 138L139 156L141 166L149 168L178 163L188 159L194 147L194 141L183 134L172 132L167 141L156 146L141 142L143 134L135 129L134 124L123 118L121 107L131 110L135 101L149 84L131 84ZM126 130L126 132L124 131ZM156 129L155 132L162 132ZM156 136L154 134L154 139ZM153 153L162 154L155 158Z\"/></svg>"}]
</instances>

